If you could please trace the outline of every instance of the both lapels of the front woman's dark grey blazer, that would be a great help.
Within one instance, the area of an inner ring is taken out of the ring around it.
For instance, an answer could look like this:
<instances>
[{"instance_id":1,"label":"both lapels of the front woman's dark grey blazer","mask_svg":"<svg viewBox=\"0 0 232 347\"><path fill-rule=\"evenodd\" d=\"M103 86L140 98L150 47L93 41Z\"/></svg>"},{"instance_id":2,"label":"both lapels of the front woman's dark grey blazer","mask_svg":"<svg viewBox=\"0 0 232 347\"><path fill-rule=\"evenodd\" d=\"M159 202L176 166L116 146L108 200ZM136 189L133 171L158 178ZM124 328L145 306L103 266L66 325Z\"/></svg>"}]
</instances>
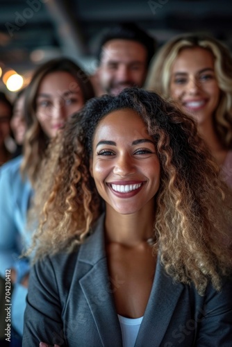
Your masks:
<instances>
[{"instance_id":1,"label":"both lapels of the front woman's dark grey blazer","mask_svg":"<svg viewBox=\"0 0 232 347\"><path fill-rule=\"evenodd\" d=\"M90 271L80 280L81 288L97 325L103 346L121 347L122 334L108 275L104 246L104 214L96 223L93 234L81 246L78 261L90 264ZM114 283L115 284L115 283ZM120 285L120 283L116 283ZM158 257L154 283L144 312L135 347L160 346L169 321L183 291L183 285L173 285ZM107 328L106 328L107 326ZM147 341L147 342L146 342ZM150 341L150 344L149 344Z\"/></svg>"}]
</instances>

